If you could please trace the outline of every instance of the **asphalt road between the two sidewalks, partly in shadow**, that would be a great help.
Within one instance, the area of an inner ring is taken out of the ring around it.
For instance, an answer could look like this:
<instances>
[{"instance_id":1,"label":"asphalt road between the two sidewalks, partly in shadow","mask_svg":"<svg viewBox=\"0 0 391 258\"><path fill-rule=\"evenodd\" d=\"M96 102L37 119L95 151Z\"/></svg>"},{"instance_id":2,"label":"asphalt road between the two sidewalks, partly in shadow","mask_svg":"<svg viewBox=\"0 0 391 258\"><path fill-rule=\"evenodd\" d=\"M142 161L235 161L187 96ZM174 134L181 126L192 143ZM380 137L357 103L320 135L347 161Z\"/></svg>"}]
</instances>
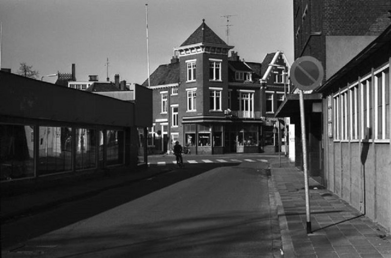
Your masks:
<instances>
[{"instance_id":1,"label":"asphalt road between the two sidewalks, partly in shadow","mask_svg":"<svg viewBox=\"0 0 391 258\"><path fill-rule=\"evenodd\" d=\"M277 217L269 203L268 163L257 159L199 158L14 221L8 231L24 230L27 236L18 239L29 240L2 257L273 257Z\"/></svg>"}]
</instances>

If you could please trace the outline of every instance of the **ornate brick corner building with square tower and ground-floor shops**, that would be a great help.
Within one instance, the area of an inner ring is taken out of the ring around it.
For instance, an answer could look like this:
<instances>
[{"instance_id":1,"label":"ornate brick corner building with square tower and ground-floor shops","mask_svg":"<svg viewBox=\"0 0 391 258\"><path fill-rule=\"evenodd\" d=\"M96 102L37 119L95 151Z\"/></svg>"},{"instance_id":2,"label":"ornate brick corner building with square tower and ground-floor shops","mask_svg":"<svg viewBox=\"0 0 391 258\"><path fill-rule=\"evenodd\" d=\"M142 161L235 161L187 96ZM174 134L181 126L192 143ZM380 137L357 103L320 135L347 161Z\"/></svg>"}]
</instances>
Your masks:
<instances>
[{"instance_id":1,"label":"ornate brick corner building with square tower and ground-floor shops","mask_svg":"<svg viewBox=\"0 0 391 258\"><path fill-rule=\"evenodd\" d=\"M240 60L234 51L229 56L232 48L203 20L175 49L178 56L152 73L149 146L167 152L178 140L193 154L276 150L274 112L289 64L281 51L261 63Z\"/></svg>"}]
</instances>

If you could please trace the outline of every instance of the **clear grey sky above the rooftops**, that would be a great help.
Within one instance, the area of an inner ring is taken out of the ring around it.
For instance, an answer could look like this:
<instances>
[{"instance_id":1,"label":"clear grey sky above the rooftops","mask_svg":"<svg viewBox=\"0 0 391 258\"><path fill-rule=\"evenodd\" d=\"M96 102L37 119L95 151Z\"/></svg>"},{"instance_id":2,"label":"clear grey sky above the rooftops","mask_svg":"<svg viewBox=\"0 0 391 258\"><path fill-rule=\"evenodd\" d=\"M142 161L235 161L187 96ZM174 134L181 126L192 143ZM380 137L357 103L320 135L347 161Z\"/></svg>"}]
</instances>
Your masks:
<instances>
[{"instance_id":1,"label":"clear grey sky above the rooftops","mask_svg":"<svg viewBox=\"0 0 391 258\"><path fill-rule=\"evenodd\" d=\"M151 73L170 63L174 47L202 23L229 45L240 59L261 62L282 50L293 62L292 0L0 0L2 68L16 73L25 62L40 76L71 72L76 79L114 74L130 83L148 77L146 8ZM56 77L44 78L54 82Z\"/></svg>"}]
</instances>

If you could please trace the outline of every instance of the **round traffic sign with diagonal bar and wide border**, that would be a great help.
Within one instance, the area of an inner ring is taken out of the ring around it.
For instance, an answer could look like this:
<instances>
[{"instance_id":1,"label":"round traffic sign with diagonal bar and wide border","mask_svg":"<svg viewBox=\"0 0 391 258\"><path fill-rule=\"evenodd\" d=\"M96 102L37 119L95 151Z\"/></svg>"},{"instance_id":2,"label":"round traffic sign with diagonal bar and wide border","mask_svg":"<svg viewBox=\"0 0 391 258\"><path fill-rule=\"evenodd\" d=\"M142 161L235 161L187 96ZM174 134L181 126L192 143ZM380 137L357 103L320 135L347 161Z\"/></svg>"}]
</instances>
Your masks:
<instances>
[{"instance_id":1,"label":"round traffic sign with diagonal bar and wide border","mask_svg":"<svg viewBox=\"0 0 391 258\"><path fill-rule=\"evenodd\" d=\"M316 58L305 56L298 58L290 68L290 79L297 88L308 91L321 85L324 70Z\"/></svg>"}]
</instances>

